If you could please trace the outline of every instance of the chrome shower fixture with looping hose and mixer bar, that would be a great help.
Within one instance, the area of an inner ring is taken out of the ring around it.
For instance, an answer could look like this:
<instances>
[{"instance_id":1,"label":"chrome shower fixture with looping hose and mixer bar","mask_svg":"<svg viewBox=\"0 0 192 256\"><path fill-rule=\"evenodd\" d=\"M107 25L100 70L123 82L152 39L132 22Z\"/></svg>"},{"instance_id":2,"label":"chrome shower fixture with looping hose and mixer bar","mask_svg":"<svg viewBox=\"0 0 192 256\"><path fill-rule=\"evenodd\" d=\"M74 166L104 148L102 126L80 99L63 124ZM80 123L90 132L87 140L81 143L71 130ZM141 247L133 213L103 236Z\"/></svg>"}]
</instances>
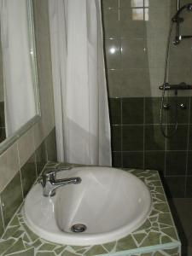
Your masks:
<instances>
[{"instance_id":1,"label":"chrome shower fixture with looping hose and mixer bar","mask_svg":"<svg viewBox=\"0 0 192 256\"><path fill-rule=\"evenodd\" d=\"M169 52L170 52L170 44L171 44L171 38L172 38L172 28L173 25L176 23L176 36L175 40L173 41L174 45L180 44L183 39L192 39L192 35L186 35L183 36L180 34L180 23L184 21L183 17L180 17L180 14L183 12L184 9L187 9L188 11L192 11L192 3L187 3L180 7L180 0L177 0L177 13L172 17L171 26L169 29L168 39L167 39L167 45L166 45L166 63L165 63L165 73L164 73L164 82L162 85L160 85L159 89L162 90L162 97L161 97L161 103L160 103L160 131L162 132L163 136L166 138L172 137L175 132L177 131L177 110L180 109L186 109L186 106L183 103L180 103L180 105L177 104L177 90L192 90L191 84L186 84L184 82L180 84L169 84L167 82L167 70L168 70L168 61L169 61ZM174 90L176 101L175 101L175 127L174 130L171 133L166 133L163 128L163 109L169 110L170 105L168 103L165 103L165 92L166 90Z\"/></svg>"}]
</instances>

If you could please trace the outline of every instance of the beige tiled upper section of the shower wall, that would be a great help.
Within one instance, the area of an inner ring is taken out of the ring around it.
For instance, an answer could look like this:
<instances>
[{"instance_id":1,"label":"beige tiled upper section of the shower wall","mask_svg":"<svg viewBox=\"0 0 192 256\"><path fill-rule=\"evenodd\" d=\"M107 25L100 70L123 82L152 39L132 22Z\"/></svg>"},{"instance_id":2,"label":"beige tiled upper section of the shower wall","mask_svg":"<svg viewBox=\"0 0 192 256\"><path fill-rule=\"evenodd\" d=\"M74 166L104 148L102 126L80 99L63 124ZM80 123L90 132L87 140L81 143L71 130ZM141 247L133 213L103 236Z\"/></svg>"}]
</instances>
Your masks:
<instances>
[{"instance_id":1,"label":"beige tiled upper section of the shower wall","mask_svg":"<svg viewBox=\"0 0 192 256\"><path fill-rule=\"evenodd\" d=\"M189 2L181 0L181 4ZM110 97L161 96L159 85L164 78L166 41L176 3L176 0L102 0ZM181 32L189 34L192 15L183 11L183 17ZM190 40L177 46L171 44L169 82L192 83L191 63ZM179 95L189 96L189 91Z\"/></svg>"}]
</instances>

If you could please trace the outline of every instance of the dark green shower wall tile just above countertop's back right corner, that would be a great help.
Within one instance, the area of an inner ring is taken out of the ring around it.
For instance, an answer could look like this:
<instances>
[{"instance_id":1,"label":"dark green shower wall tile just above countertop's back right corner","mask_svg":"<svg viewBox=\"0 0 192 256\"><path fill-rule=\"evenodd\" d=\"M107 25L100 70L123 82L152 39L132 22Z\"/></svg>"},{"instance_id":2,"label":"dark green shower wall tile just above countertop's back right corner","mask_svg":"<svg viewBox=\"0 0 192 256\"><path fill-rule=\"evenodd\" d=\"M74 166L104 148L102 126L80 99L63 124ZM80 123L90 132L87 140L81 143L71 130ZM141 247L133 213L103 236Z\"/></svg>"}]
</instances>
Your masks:
<instances>
[{"instance_id":1,"label":"dark green shower wall tile just above countertop's back right corner","mask_svg":"<svg viewBox=\"0 0 192 256\"><path fill-rule=\"evenodd\" d=\"M165 152L150 151L145 152L144 168L157 170L161 174L165 172Z\"/></svg>"}]
</instances>

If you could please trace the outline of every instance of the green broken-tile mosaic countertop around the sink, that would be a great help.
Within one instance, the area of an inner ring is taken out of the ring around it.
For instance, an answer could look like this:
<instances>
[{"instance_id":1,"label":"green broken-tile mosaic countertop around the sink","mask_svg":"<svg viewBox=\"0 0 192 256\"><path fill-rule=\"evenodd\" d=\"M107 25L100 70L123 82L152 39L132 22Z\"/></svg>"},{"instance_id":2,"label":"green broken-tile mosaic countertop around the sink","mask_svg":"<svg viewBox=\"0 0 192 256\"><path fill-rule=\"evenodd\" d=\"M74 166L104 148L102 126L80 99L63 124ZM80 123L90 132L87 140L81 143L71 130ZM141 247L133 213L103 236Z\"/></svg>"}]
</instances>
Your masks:
<instances>
[{"instance_id":1,"label":"green broken-tile mosaic countertop around the sink","mask_svg":"<svg viewBox=\"0 0 192 256\"><path fill-rule=\"evenodd\" d=\"M50 165L50 164L49 164ZM20 210L0 240L0 255L12 256L180 256L180 241L157 171L126 169L150 190L153 210L145 223L125 238L101 245L75 247L50 243L29 230Z\"/></svg>"}]
</instances>

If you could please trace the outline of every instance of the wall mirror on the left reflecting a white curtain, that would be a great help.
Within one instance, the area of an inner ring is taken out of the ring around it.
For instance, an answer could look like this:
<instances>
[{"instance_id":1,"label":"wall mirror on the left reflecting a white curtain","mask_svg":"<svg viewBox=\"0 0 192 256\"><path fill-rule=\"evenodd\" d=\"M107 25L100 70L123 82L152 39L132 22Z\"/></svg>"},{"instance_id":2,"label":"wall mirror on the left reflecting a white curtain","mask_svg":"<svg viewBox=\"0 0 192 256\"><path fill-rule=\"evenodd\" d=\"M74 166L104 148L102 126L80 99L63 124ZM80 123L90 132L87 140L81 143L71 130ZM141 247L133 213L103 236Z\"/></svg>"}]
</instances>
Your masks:
<instances>
[{"instance_id":1,"label":"wall mirror on the left reflecting a white curtain","mask_svg":"<svg viewBox=\"0 0 192 256\"><path fill-rule=\"evenodd\" d=\"M32 0L0 0L0 30L2 146L25 132L40 114Z\"/></svg>"}]
</instances>

